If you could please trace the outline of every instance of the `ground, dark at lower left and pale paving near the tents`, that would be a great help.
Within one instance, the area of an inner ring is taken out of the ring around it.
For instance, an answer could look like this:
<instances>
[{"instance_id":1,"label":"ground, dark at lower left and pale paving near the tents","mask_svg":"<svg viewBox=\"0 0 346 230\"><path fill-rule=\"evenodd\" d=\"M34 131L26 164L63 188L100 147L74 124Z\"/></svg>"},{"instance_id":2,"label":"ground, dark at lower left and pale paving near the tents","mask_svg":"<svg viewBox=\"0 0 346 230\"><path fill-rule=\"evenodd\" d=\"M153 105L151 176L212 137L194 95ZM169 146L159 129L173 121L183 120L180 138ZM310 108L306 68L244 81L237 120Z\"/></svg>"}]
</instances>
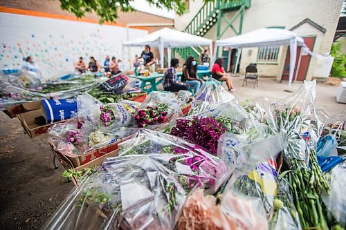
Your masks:
<instances>
[{"instance_id":1,"label":"ground, dark at lower left and pale paving near the tents","mask_svg":"<svg viewBox=\"0 0 346 230\"><path fill-rule=\"evenodd\" d=\"M273 79L260 79L259 87L252 84L242 88L242 79L233 78L240 101L256 99L270 102L292 93L284 92L286 83ZM297 89L301 84L293 84ZM338 87L318 84L317 106L328 113L346 109L337 104L335 95ZM53 153L46 142L46 135L30 139L23 133L17 119L0 113L0 229L39 229L57 205L73 188L60 177L62 167L53 169Z\"/></svg>"}]
</instances>

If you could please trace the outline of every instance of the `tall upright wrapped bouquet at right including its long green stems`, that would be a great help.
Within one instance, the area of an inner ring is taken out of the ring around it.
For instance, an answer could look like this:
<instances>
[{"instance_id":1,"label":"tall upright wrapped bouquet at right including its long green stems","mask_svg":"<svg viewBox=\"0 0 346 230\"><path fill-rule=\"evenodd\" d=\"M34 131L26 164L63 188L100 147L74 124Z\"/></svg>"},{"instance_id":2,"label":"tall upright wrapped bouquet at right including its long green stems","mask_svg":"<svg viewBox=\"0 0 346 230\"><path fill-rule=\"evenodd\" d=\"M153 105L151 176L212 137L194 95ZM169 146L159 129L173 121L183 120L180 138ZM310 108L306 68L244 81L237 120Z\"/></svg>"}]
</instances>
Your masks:
<instances>
[{"instance_id":1,"label":"tall upright wrapped bouquet at right including its long green stems","mask_svg":"<svg viewBox=\"0 0 346 230\"><path fill-rule=\"evenodd\" d=\"M330 188L318 164L315 144L322 127L316 108L316 80L304 84L288 99L271 104L273 131L282 135L282 154L289 171L286 180L293 188L295 209L302 228L331 227L323 213L320 194Z\"/></svg>"}]
</instances>

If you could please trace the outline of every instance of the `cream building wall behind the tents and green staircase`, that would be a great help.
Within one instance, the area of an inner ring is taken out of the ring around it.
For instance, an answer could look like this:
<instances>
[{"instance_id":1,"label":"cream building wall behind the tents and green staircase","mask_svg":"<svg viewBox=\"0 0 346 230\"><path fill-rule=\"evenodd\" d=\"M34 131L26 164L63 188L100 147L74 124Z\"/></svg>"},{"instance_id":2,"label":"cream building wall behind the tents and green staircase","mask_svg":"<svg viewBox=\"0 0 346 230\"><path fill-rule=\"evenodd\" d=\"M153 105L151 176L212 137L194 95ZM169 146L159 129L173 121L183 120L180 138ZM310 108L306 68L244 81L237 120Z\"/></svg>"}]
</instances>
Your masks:
<instances>
[{"instance_id":1,"label":"cream building wall behind the tents and green staircase","mask_svg":"<svg viewBox=\"0 0 346 230\"><path fill-rule=\"evenodd\" d=\"M199 5L201 8L202 1L194 1L194 5ZM253 0L251 1L251 8L248 8L244 12L243 21L243 33L251 32L258 28L271 27L271 26L284 26L286 29L291 29L304 19L311 19L318 25L326 29L323 34L320 30L316 30L309 24L303 25L300 28L294 30L300 36L316 36L316 44L313 48L313 52L318 54L324 54L329 52L338 23L338 17L340 10L343 6L343 0L290 0L290 1L277 1L277 0ZM228 19L232 19L235 15L235 11L227 12L225 16ZM195 14L194 14L195 15ZM183 25L188 25L192 17L192 14L185 14L182 17L176 15L175 25L179 28ZM239 24L239 19L235 20L234 25ZM224 20L221 21L221 32L226 28L227 24ZM236 26L237 28L237 26ZM228 28L224 35L221 37L233 37L235 32ZM217 26L213 26L205 35L209 39L217 39ZM249 51L251 55L249 55ZM244 70L251 62L257 60L258 48L246 48L242 52L241 59L241 73L244 74ZM286 59L286 48L280 48L279 59L277 64L259 64L260 75L274 76L277 79L281 79L282 69L284 67L283 62ZM221 52L219 52L221 54ZM307 73L307 79L313 77L313 65L316 64L316 59L311 58L310 67Z\"/></svg>"}]
</instances>

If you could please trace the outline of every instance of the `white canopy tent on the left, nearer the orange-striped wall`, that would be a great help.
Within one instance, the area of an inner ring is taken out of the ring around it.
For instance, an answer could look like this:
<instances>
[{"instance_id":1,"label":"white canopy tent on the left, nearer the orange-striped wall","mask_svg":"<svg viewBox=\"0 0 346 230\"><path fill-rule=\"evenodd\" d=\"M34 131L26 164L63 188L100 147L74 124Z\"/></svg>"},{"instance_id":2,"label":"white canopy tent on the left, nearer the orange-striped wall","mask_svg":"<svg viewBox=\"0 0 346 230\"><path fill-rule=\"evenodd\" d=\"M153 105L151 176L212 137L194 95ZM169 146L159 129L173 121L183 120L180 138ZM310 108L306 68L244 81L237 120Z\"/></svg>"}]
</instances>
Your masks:
<instances>
[{"instance_id":1,"label":"white canopy tent on the left, nearer the orange-striped wall","mask_svg":"<svg viewBox=\"0 0 346 230\"><path fill-rule=\"evenodd\" d=\"M173 30L170 28L163 28L150 33L145 37L132 39L124 42L123 46L145 46L149 45L158 48L160 52L161 68L164 62L164 49L167 48L168 66L170 66L172 48L183 48L190 46L209 46L210 53L212 53L212 40L204 37L190 35L185 32Z\"/></svg>"}]
</instances>

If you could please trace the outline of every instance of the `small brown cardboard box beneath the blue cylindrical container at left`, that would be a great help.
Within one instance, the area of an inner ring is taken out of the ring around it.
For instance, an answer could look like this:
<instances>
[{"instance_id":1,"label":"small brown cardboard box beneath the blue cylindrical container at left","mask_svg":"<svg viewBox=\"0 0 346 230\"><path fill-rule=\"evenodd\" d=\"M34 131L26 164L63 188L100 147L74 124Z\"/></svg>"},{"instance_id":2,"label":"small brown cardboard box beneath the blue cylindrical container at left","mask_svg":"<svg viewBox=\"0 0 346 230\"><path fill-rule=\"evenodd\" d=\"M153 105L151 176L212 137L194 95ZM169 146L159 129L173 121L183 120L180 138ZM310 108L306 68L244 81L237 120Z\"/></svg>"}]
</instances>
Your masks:
<instances>
[{"instance_id":1,"label":"small brown cardboard box beneath the blue cylindrical container at left","mask_svg":"<svg viewBox=\"0 0 346 230\"><path fill-rule=\"evenodd\" d=\"M53 124L45 124L43 126L39 126L35 124L35 117L42 116L41 109L37 109L35 111L29 111L26 113L21 113L17 115L19 122L21 123L21 126L23 126L24 131L28 133L30 138L37 137L38 135L44 134L47 132L48 128L53 126L53 124L66 122L69 119L66 119L61 122L55 122Z\"/></svg>"}]
</instances>

